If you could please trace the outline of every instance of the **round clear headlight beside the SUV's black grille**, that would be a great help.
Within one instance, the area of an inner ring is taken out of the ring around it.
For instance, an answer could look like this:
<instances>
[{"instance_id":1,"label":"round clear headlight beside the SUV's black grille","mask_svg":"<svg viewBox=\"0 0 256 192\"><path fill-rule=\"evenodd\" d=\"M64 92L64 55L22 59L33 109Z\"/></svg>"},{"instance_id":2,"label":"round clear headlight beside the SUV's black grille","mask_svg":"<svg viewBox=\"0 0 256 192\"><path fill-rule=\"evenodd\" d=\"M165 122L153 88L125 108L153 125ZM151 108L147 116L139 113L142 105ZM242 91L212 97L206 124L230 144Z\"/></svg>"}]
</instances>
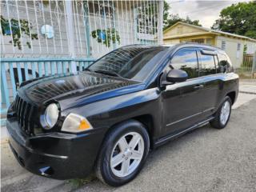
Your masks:
<instances>
[{"instance_id":1,"label":"round clear headlight beside the SUV's black grille","mask_svg":"<svg viewBox=\"0 0 256 192\"><path fill-rule=\"evenodd\" d=\"M51 103L47 106L45 114L41 118L42 127L46 130L53 128L58 121L58 113L58 106L55 103Z\"/></svg>"}]
</instances>

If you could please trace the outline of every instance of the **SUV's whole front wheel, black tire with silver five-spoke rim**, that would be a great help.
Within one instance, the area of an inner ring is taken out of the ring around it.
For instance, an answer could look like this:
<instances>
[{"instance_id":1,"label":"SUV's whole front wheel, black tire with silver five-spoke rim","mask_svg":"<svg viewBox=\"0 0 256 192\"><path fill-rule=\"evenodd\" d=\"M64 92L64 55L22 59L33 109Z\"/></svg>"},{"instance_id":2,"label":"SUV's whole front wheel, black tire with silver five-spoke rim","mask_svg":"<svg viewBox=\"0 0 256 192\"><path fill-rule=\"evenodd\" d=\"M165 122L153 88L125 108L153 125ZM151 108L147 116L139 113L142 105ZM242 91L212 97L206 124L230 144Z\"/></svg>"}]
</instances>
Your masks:
<instances>
[{"instance_id":1,"label":"SUV's whole front wheel, black tire with silver five-spoke rim","mask_svg":"<svg viewBox=\"0 0 256 192\"><path fill-rule=\"evenodd\" d=\"M110 186L122 186L142 169L150 149L150 138L142 123L130 120L107 134L96 165L97 177Z\"/></svg>"}]
</instances>

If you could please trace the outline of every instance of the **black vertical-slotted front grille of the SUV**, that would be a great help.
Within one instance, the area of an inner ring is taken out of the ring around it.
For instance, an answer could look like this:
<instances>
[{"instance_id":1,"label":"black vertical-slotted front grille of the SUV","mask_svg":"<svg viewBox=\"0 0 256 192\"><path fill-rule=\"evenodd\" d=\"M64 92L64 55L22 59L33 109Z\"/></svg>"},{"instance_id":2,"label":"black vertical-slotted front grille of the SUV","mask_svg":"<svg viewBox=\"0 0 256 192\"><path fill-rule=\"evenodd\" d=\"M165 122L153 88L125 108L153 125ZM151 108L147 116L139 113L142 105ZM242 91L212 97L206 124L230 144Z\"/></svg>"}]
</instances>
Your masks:
<instances>
[{"instance_id":1,"label":"black vertical-slotted front grille of the SUV","mask_svg":"<svg viewBox=\"0 0 256 192\"><path fill-rule=\"evenodd\" d=\"M20 128L27 135L34 135L34 114L37 113L36 106L31 105L17 95L15 98L15 111Z\"/></svg>"}]
</instances>

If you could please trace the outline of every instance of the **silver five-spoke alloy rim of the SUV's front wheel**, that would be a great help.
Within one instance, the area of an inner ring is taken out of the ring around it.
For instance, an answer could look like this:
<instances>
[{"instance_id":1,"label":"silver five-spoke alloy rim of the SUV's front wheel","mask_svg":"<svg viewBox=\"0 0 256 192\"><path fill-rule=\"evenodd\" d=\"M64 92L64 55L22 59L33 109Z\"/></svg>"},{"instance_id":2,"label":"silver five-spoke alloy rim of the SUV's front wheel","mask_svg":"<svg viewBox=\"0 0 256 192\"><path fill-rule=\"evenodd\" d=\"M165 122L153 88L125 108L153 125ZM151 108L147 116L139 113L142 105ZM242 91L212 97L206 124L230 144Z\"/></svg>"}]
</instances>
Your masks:
<instances>
[{"instance_id":1,"label":"silver five-spoke alloy rim of the SUV's front wheel","mask_svg":"<svg viewBox=\"0 0 256 192\"><path fill-rule=\"evenodd\" d=\"M136 132L125 134L116 142L110 158L110 166L114 175L126 177L134 172L142 161L144 140Z\"/></svg>"}]
</instances>

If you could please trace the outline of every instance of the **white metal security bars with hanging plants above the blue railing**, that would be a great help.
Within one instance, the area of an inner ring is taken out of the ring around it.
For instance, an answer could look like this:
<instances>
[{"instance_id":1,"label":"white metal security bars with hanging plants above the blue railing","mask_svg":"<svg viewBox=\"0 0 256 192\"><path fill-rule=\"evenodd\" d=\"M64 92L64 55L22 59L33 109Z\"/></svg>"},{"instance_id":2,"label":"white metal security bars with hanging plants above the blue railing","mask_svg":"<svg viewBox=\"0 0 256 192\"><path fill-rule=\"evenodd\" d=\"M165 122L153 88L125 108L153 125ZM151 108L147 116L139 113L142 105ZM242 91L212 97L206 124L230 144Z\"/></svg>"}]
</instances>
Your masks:
<instances>
[{"instance_id":1,"label":"white metal security bars with hanging plants above the blue railing","mask_svg":"<svg viewBox=\"0 0 256 192\"><path fill-rule=\"evenodd\" d=\"M2 58L98 58L119 46L161 41L162 1L0 3Z\"/></svg>"}]
</instances>

